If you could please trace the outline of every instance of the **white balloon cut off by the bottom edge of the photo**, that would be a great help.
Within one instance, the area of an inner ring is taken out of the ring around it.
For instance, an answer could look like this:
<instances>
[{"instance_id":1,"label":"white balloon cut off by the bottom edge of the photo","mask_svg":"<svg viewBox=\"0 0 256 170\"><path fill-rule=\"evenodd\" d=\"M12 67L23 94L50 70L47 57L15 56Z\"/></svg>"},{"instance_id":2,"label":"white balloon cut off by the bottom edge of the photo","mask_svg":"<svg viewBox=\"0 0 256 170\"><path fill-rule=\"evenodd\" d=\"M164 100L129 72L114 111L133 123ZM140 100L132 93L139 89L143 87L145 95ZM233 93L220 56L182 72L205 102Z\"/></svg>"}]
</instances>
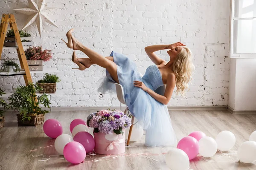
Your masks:
<instances>
[{"instance_id":1,"label":"white balloon cut off by the bottom edge of the photo","mask_svg":"<svg viewBox=\"0 0 256 170\"><path fill-rule=\"evenodd\" d=\"M165 161L171 170L188 170L189 157L181 149L172 148L165 154Z\"/></svg>"}]
</instances>

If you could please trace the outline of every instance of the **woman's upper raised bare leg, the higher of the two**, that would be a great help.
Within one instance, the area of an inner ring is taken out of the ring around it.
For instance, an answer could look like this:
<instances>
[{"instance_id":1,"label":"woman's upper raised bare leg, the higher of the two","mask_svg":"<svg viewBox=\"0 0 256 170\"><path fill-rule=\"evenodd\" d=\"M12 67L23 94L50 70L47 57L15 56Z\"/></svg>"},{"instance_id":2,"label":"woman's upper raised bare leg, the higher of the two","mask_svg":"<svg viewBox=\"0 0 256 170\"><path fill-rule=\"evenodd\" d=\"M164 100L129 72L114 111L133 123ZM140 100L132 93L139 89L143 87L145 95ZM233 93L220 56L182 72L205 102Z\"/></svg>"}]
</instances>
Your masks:
<instances>
[{"instance_id":1,"label":"woman's upper raised bare leg, the higher of the two","mask_svg":"<svg viewBox=\"0 0 256 170\"><path fill-rule=\"evenodd\" d=\"M117 65L113 61L106 59L99 53L91 50L90 48L87 48L86 46L82 45L79 41L77 41L72 35L71 35L72 43L73 43L73 49L74 50L80 50L86 54L94 64L99 65L103 68L106 68L113 78L113 80L117 83L119 83L118 77L117 77Z\"/></svg>"}]
</instances>

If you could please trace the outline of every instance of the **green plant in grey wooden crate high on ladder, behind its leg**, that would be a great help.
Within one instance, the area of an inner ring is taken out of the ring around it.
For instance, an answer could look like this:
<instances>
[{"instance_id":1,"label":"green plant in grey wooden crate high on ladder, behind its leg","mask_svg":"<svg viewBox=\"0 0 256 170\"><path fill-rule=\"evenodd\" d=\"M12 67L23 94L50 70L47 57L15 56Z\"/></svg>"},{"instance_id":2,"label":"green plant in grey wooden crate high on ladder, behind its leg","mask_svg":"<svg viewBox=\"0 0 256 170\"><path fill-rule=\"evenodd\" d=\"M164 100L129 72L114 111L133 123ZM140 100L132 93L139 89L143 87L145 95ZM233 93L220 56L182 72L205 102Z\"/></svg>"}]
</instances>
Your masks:
<instances>
[{"instance_id":1,"label":"green plant in grey wooden crate high on ladder, behind its leg","mask_svg":"<svg viewBox=\"0 0 256 170\"><path fill-rule=\"evenodd\" d=\"M20 40L23 46L33 45L33 37L31 34L28 34L26 31L19 30ZM15 38L15 34L13 29L8 30L5 37L5 42L3 44L6 47L17 47L17 40Z\"/></svg>"}]
</instances>

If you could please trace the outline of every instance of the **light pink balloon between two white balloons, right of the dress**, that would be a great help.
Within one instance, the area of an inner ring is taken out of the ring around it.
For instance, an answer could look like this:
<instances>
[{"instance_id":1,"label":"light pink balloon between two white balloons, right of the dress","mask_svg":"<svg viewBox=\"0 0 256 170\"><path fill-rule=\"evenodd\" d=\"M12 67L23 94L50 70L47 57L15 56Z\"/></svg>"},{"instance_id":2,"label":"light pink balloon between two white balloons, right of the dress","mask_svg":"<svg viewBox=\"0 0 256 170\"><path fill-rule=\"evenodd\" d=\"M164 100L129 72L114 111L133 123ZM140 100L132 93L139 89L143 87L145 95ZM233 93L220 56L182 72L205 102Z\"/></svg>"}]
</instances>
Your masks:
<instances>
[{"instance_id":1,"label":"light pink balloon between two white balloons, right of the dress","mask_svg":"<svg viewBox=\"0 0 256 170\"><path fill-rule=\"evenodd\" d=\"M186 152L189 156L189 160L194 159L199 153L198 141L192 136L186 136L180 139L177 148Z\"/></svg>"}]
</instances>

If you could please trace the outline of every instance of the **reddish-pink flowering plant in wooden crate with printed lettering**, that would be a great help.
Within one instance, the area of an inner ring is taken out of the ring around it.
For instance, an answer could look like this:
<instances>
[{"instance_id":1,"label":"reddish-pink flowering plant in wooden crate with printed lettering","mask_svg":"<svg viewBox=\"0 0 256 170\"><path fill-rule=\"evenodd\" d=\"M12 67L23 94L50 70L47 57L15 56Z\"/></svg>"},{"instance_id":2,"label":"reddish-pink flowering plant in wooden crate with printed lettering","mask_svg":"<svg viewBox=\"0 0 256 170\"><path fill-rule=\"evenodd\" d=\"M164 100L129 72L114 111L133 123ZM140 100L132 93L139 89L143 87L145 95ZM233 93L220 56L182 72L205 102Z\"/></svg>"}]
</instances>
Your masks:
<instances>
[{"instance_id":1,"label":"reddish-pink flowering plant in wooden crate with printed lettering","mask_svg":"<svg viewBox=\"0 0 256 170\"><path fill-rule=\"evenodd\" d=\"M43 71L43 61L52 58L52 50L42 49L42 46L29 47L25 51L26 59L31 71Z\"/></svg>"}]
</instances>

